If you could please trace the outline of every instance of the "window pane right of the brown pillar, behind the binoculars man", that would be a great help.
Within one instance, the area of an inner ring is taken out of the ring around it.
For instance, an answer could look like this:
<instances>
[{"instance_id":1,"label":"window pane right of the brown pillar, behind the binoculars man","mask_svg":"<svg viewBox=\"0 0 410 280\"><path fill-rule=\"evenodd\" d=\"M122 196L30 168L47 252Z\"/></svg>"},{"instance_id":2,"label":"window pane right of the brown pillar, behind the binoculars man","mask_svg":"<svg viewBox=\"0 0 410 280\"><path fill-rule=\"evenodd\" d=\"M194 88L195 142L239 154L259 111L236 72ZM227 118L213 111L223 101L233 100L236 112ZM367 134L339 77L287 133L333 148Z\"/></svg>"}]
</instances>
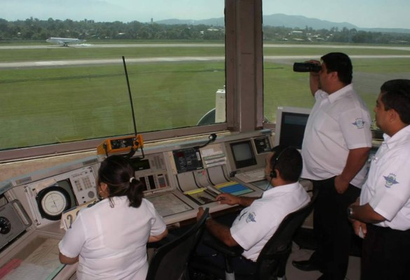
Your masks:
<instances>
[{"instance_id":1,"label":"window pane right of the brown pillar, behind the binoculars man","mask_svg":"<svg viewBox=\"0 0 410 280\"><path fill-rule=\"evenodd\" d=\"M263 1L264 116L275 123L278 106L310 108L308 73L294 62L345 52L353 85L372 111L383 82L409 78L409 1Z\"/></svg>"}]
</instances>

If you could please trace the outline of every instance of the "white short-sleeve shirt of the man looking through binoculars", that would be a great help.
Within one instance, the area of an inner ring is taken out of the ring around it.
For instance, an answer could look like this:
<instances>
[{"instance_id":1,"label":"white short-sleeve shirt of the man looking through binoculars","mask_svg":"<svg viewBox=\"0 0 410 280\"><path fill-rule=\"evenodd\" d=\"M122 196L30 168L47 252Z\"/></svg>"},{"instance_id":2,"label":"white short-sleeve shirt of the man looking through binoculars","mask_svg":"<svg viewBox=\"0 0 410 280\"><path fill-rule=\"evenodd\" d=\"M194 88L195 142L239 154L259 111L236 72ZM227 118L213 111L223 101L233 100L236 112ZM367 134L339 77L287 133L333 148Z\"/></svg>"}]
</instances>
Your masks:
<instances>
[{"instance_id":1,"label":"white short-sleeve shirt of the man looking through binoculars","mask_svg":"<svg viewBox=\"0 0 410 280\"><path fill-rule=\"evenodd\" d=\"M371 147L371 119L351 84L332 94L317 90L315 99L303 137L302 177L324 180L343 172L349 150ZM360 188L366 172L350 183Z\"/></svg>"}]
</instances>

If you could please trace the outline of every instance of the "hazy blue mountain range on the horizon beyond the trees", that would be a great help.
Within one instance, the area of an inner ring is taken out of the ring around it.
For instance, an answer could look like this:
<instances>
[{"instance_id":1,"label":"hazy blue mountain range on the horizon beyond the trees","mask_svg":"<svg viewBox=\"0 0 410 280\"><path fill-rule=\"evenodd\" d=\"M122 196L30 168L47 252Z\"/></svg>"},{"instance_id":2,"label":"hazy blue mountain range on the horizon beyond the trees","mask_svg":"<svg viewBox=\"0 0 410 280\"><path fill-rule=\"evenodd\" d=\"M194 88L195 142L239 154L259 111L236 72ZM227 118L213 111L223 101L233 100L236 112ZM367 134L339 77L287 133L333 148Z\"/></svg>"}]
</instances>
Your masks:
<instances>
[{"instance_id":1,"label":"hazy blue mountain range on the horizon beyond the trees","mask_svg":"<svg viewBox=\"0 0 410 280\"><path fill-rule=\"evenodd\" d=\"M210 18L207 20L158 20L156 23L164 25L211 25L214 27L224 27L224 18ZM360 31L372 31L383 33L410 33L410 29L404 28L361 28L356 25L352 25L349 22L329 22L328 20L318 20L317 18L306 18L303 15L284 15L282 13L275 13L273 15L263 16L264 26L271 27L289 27L295 29L305 29L306 27L312 27L313 29L332 29L337 27L338 29L357 29Z\"/></svg>"}]
</instances>

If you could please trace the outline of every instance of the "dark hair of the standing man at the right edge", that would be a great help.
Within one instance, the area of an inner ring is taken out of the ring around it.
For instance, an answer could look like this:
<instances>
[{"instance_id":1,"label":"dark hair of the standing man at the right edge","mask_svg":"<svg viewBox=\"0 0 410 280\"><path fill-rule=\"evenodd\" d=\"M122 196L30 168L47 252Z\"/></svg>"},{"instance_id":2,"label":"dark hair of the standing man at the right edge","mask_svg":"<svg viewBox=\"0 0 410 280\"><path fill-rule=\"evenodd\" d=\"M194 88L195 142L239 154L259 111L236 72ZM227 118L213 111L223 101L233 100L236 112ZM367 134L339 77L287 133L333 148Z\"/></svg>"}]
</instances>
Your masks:
<instances>
[{"instance_id":1,"label":"dark hair of the standing man at the right edge","mask_svg":"<svg viewBox=\"0 0 410 280\"><path fill-rule=\"evenodd\" d=\"M388 80L383 83L380 90L385 111L394 109L400 120L410 125L410 80Z\"/></svg>"}]
</instances>

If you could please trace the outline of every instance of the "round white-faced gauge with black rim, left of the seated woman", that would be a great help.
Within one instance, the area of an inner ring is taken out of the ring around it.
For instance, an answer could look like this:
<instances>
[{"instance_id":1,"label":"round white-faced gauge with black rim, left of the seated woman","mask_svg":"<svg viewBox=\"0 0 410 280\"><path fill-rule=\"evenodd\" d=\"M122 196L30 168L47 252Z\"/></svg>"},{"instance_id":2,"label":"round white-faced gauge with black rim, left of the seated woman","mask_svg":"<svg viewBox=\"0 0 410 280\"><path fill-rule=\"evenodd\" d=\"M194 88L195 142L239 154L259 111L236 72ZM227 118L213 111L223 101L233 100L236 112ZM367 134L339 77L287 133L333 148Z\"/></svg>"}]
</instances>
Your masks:
<instances>
[{"instance_id":1,"label":"round white-faced gauge with black rim, left of the seated woman","mask_svg":"<svg viewBox=\"0 0 410 280\"><path fill-rule=\"evenodd\" d=\"M71 205L67 190L57 186L41 190L36 200L41 216L52 221L59 220L62 212L69 209Z\"/></svg>"}]
</instances>

